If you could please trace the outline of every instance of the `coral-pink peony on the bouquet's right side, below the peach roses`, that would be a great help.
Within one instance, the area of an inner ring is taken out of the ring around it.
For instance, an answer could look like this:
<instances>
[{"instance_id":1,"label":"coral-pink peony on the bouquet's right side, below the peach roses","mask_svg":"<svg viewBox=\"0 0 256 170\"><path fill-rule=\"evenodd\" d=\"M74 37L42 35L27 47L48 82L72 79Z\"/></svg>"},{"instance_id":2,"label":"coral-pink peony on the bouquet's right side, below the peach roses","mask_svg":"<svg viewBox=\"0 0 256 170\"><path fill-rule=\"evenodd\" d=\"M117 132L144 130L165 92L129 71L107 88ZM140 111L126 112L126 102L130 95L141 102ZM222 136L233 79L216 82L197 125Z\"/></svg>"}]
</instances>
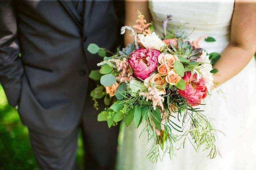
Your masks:
<instances>
[{"instance_id":1,"label":"coral-pink peony on the bouquet's right side, below the peach roses","mask_svg":"<svg viewBox=\"0 0 256 170\"><path fill-rule=\"evenodd\" d=\"M185 90L179 90L179 94L187 98L191 106L199 105L207 95L204 79L200 78L196 81L196 74L191 76L190 72L186 72L183 79L186 82L186 87Z\"/></svg>"}]
</instances>

